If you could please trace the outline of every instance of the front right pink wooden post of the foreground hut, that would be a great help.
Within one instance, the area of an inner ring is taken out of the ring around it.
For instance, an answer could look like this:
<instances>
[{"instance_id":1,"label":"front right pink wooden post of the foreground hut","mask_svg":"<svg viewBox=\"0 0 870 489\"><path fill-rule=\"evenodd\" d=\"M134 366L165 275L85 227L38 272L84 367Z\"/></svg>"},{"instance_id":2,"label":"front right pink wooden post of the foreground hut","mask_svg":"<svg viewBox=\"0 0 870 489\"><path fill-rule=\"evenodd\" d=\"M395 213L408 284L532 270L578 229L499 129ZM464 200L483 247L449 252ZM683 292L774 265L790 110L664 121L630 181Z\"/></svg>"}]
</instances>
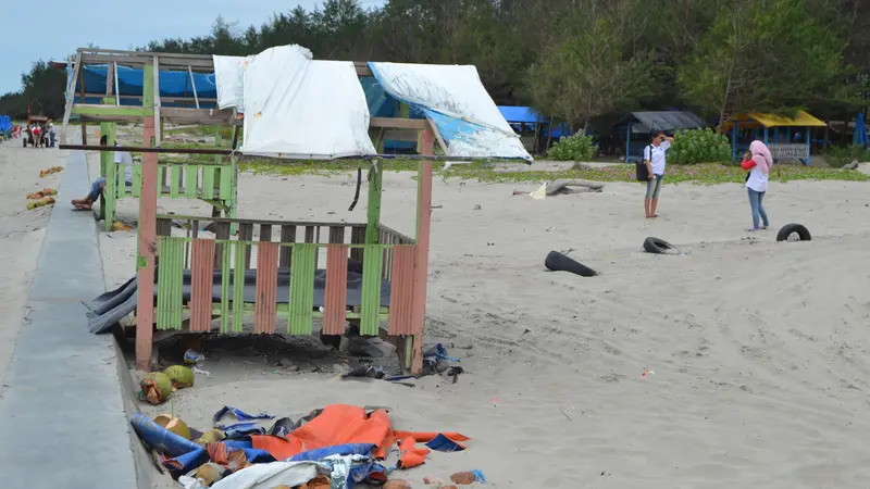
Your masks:
<instances>
[{"instance_id":1,"label":"front right pink wooden post of the foreground hut","mask_svg":"<svg viewBox=\"0 0 870 489\"><path fill-rule=\"evenodd\" d=\"M420 138L420 154L434 155L435 134L425 129ZM423 333L426 323L426 280L428 279L428 242L432 226L432 160L419 165L417 191L417 250L414 256L413 288L413 344L411 347L411 373L423 369Z\"/></svg>"}]
</instances>

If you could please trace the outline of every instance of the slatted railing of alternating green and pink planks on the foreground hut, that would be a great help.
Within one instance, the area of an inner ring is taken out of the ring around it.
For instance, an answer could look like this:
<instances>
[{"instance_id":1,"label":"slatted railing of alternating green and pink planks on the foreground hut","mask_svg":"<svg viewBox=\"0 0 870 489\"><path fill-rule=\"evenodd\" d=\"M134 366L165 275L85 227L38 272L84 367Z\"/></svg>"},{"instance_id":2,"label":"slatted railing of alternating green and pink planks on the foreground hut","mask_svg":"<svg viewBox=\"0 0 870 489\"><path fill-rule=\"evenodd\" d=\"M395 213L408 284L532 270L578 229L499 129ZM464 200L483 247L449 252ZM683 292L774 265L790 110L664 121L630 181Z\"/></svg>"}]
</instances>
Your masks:
<instances>
[{"instance_id":1,"label":"slatted railing of alternating green and pink planks on the foreground hut","mask_svg":"<svg viewBox=\"0 0 870 489\"><path fill-rule=\"evenodd\" d=\"M216 317L222 333L241 333L253 316L254 333L275 333L286 317L291 335L310 334L314 318L327 335L348 319L362 335L377 335L383 321L393 334L414 334L415 243L378 229L380 242L365 243L364 224L159 215L157 326L182 329L187 314L189 329L202 331ZM361 274L361 287L349 287L348 273Z\"/></svg>"}]
</instances>

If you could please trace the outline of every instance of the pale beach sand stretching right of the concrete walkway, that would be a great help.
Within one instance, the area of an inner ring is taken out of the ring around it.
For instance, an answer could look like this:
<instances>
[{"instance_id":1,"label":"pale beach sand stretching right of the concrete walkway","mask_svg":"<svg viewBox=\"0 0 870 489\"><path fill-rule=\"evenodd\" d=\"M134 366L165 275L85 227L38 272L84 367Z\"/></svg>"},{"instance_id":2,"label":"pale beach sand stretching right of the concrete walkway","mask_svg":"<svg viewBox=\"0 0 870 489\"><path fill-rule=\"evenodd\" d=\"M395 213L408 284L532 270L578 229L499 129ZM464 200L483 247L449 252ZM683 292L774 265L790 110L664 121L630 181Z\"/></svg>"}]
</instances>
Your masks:
<instances>
[{"instance_id":1,"label":"pale beach sand stretching right of the concrete walkway","mask_svg":"<svg viewBox=\"0 0 870 489\"><path fill-rule=\"evenodd\" d=\"M244 175L240 216L363 222L364 190L347 212L351 181ZM415 184L385 181L383 222L409 233ZM813 241L799 243L775 243L775 230L747 239L738 185L666 183L657 221L643 218L638 185L544 201L512 197L519 187L436 177L426 335L462 358L456 385L343 381L226 354L174 396L175 413L208 427L224 404L291 417L376 404L400 429L473 438L396 474L415 487L471 468L500 488L867 486L869 185L771 184L773 227L805 224ZM136 200L122 203L123 220L136 215ZM110 287L133 274L133 236L101 235ZM688 254L644 253L647 236ZM547 252L568 249L601 276L544 269Z\"/></svg>"}]
</instances>

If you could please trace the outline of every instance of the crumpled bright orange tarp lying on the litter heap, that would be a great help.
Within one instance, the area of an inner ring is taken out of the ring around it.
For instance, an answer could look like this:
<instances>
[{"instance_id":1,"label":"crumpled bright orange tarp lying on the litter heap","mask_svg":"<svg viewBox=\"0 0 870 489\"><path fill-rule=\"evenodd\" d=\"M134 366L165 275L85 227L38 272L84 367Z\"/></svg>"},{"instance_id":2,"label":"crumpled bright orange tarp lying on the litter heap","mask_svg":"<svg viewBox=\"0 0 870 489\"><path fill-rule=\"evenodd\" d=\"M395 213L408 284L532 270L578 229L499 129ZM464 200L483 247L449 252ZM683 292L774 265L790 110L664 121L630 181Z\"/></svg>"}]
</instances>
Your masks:
<instances>
[{"instance_id":1,"label":"crumpled bright orange tarp lying on the litter heap","mask_svg":"<svg viewBox=\"0 0 870 489\"><path fill-rule=\"evenodd\" d=\"M333 404L324 408L318 417L287 434L285 438L254 435L251 436L251 441L253 448L268 451L275 460L286 460L309 450L345 443L372 443L376 447L375 456L384 459L397 440L413 439L414 442L424 442L432 440L436 435L437 432L393 431L386 411L375 411L371 416L366 416L362 408ZM453 441L469 439L453 432L443 435ZM408 444L405 444L406 450ZM424 455L428 450L417 449L414 452Z\"/></svg>"}]
</instances>

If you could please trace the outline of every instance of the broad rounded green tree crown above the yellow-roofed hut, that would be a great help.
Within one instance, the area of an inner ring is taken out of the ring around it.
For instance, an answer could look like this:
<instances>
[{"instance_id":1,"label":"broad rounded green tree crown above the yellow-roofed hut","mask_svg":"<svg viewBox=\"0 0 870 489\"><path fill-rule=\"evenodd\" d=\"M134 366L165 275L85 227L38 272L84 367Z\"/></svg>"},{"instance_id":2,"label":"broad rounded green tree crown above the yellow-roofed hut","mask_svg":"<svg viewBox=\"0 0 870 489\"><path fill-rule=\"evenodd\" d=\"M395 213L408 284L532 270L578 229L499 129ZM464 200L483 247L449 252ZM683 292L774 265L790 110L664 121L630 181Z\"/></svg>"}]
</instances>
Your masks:
<instances>
[{"instance_id":1,"label":"broad rounded green tree crown above the yellow-roofed hut","mask_svg":"<svg viewBox=\"0 0 870 489\"><path fill-rule=\"evenodd\" d=\"M805 0L738 0L721 8L679 67L682 96L725 121L844 100L845 42Z\"/></svg>"}]
</instances>

